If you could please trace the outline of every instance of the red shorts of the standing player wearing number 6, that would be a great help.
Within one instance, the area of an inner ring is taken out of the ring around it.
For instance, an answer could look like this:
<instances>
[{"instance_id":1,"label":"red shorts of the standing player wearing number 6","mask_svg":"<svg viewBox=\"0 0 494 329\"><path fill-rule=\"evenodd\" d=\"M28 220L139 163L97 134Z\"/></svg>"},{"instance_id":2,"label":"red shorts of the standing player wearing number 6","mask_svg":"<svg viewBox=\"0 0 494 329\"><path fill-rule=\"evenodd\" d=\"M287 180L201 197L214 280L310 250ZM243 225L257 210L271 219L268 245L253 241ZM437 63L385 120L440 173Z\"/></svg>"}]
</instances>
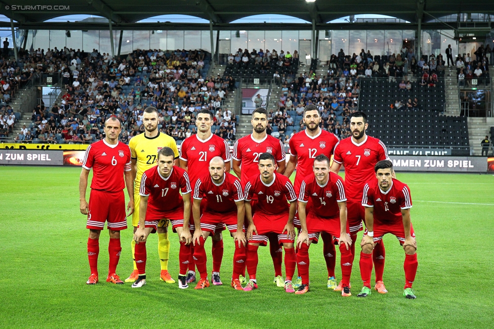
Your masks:
<instances>
[{"instance_id":1,"label":"red shorts of the standing player wearing number 6","mask_svg":"<svg viewBox=\"0 0 494 329\"><path fill-rule=\"evenodd\" d=\"M118 192L91 190L88 208L86 228L103 229L105 221L108 221L107 228L114 231L127 228L123 190Z\"/></svg>"}]
</instances>

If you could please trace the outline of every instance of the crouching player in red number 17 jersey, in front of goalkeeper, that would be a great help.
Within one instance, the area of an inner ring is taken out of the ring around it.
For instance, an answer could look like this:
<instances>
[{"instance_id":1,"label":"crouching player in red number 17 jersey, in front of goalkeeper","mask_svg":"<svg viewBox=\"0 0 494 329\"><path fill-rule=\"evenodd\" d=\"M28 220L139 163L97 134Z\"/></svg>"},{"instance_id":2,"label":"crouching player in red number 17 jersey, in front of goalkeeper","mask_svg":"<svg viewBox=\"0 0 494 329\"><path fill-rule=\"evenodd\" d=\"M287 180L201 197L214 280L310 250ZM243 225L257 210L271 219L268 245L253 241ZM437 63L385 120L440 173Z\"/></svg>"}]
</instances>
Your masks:
<instances>
[{"instance_id":1,"label":"crouching player in red number 17 jersey, in front of goalkeeper","mask_svg":"<svg viewBox=\"0 0 494 329\"><path fill-rule=\"evenodd\" d=\"M174 166L174 159L175 153L171 148L162 148L158 151L157 166L146 170L141 178L139 226L134 233L139 277L132 288L140 288L146 284L146 240L150 233L156 232L158 222L162 220L170 220L173 231L178 233L180 241L178 287L188 288L186 275L192 242L190 231L194 229L193 225L189 224L192 190L187 172Z\"/></svg>"}]
</instances>

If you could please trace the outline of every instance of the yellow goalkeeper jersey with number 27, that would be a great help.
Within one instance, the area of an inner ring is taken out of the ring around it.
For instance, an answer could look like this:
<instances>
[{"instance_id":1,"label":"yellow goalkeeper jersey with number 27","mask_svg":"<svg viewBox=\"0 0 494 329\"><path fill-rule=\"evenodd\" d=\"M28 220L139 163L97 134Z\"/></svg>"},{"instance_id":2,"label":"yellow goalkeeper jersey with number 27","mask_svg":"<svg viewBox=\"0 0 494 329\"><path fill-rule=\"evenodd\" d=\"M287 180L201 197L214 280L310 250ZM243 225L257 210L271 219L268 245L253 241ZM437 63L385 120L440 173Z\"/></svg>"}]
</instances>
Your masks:
<instances>
[{"instance_id":1,"label":"yellow goalkeeper jersey with number 27","mask_svg":"<svg viewBox=\"0 0 494 329\"><path fill-rule=\"evenodd\" d=\"M137 193L139 193L142 174L156 165L159 150L169 147L175 153L175 158L179 156L175 139L162 132L158 132L155 137L146 137L144 133L140 133L131 138L129 147L132 159L137 159L137 174L134 182L134 192Z\"/></svg>"}]
</instances>

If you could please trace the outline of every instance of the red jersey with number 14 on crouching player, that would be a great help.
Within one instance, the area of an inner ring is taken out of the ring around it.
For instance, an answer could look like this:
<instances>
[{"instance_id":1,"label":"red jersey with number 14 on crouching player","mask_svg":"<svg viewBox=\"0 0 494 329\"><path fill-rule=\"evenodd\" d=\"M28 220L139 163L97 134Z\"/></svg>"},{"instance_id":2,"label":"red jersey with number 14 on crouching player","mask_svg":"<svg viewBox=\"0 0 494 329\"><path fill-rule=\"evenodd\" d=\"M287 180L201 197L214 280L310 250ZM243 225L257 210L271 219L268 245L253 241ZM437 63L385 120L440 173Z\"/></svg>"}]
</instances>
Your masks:
<instances>
[{"instance_id":1,"label":"red jersey with number 14 on crouching player","mask_svg":"<svg viewBox=\"0 0 494 329\"><path fill-rule=\"evenodd\" d=\"M314 174L306 176L300 184L299 201L309 202L313 215L323 218L340 217L338 202L347 201L343 179L334 172L324 185L319 185Z\"/></svg>"}]
</instances>

